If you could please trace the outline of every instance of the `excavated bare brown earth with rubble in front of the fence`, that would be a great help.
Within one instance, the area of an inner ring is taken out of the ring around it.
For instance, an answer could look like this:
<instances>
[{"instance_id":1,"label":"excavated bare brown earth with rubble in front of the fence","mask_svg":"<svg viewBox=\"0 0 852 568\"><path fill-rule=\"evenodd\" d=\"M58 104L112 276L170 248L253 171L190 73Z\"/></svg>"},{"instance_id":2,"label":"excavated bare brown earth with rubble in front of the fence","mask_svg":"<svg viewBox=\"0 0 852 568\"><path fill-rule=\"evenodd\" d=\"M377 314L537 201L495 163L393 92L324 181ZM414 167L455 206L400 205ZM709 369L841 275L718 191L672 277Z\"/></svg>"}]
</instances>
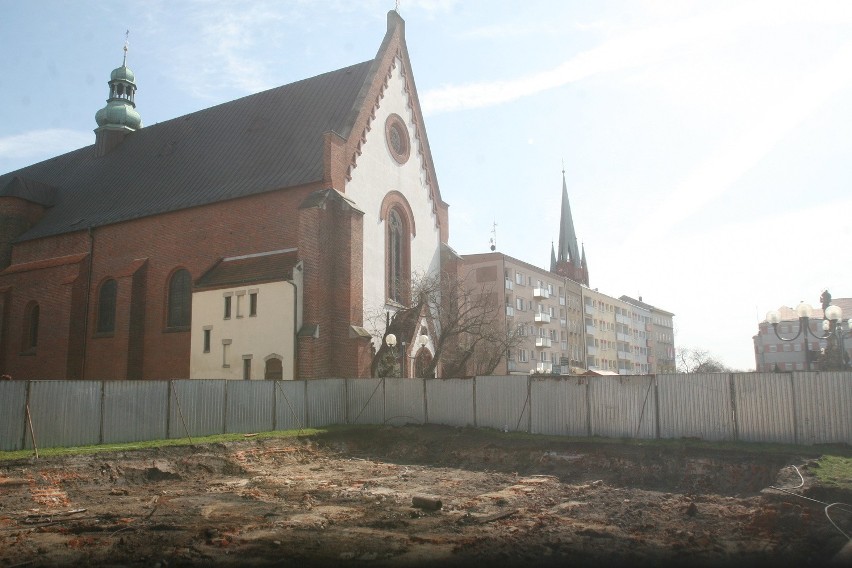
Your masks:
<instances>
[{"instance_id":1,"label":"excavated bare brown earth with rubble in front of the fence","mask_svg":"<svg viewBox=\"0 0 852 568\"><path fill-rule=\"evenodd\" d=\"M852 495L803 451L406 426L5 461L0 567L822 566Z\"/></svg>"}]
</instances>

